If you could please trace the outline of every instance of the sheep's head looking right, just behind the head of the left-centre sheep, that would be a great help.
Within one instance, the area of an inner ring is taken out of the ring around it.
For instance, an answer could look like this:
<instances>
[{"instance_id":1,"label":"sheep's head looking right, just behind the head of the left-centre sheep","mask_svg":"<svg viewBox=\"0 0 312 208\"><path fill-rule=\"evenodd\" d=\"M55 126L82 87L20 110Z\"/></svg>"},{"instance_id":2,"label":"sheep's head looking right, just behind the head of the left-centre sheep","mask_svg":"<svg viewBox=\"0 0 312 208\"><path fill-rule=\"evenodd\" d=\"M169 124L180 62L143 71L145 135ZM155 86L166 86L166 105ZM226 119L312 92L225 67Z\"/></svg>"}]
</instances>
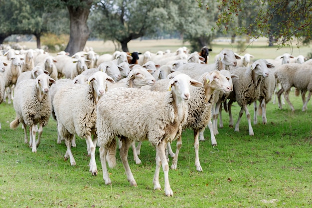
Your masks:
<instances>
[{"instance_id":1,"label":"sheep's head looking right, just behind the head of the left-centre sheep","mask_svg":"<svg viewBox=\"0 0 312 208\"><path fill-rule=\"evenodd\" d=\"M122 77L121 72L120 72L120 68L113 61L105 61L105 62L101 63L97 68L87 69L87 70L83 71L82 74L86 75L88 78L97 71L105 72L108 76L112 77L115 82L120 80Z\"/></svg>"}]
</instances>

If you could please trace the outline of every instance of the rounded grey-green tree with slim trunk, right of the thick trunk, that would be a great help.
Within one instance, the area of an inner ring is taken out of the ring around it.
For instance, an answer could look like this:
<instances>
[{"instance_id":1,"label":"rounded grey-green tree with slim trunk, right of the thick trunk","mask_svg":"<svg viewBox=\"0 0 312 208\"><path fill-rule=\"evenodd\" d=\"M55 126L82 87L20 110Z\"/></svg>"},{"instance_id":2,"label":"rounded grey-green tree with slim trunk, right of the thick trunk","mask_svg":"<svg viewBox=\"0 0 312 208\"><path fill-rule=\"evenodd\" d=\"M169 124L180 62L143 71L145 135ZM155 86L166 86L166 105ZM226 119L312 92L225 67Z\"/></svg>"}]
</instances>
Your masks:
<instances>
[{"instance_id":1,"label":"rounded grey-green tree with slim trunk, right of the thick trunk","mask_svg":"<svg viewBox=\"0 0 312 208\"><path fill-rule=\"evenodd\" d=\"M167 0L102 0L92 9L90 25L99 37L117 40L123 51L129 51L127 44L132 39L155 37L158 31L173 28L168 11L174 4Z\"/></svg>"}]
</instances>

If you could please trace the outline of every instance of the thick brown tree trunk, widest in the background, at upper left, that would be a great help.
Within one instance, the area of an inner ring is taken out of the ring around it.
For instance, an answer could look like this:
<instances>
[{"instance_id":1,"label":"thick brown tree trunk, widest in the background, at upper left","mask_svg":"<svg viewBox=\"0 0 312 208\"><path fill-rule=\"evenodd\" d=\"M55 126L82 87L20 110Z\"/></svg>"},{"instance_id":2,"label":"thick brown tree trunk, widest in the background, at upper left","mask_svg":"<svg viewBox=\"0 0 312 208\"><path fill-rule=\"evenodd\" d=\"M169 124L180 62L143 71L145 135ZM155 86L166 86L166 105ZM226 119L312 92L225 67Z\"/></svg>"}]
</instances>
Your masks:
<instances>
[{"instance_id":1,"label":"thick brown tree trunk, widest in the background, at upper left","mask_svg":"<svg viewBox=\"0 0 312 208\"><path fill-rule=\"evenodd\" d=\"M69 42L65 48L70 55L82 51L88 40L90 31L87 26L87 19L93 0L85 0L87 6L67 5L70 20Z\"/></svg>"}]
</instances>

